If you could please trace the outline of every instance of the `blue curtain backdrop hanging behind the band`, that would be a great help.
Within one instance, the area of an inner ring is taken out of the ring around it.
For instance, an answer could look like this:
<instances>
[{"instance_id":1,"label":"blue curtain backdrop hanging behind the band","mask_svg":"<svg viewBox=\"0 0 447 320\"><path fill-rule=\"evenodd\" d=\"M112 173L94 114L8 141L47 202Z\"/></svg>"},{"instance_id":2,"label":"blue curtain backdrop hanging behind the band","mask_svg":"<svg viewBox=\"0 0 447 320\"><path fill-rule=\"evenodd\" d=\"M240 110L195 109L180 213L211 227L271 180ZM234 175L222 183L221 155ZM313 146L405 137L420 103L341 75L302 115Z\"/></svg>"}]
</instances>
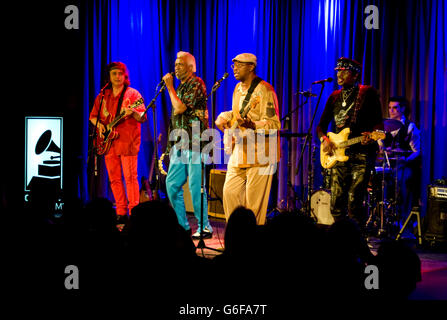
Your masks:
<instances>
[{"instance_id":1,"label":"blue curtain backdrop hanging behind the band","mask_svg":"<svg viewBox=\"0 0 447 320\"><path fill-rule=\"evenodd\" d=\"M379 29L368 30L368 5L378 8ZM231 109L236 80L231 59L251 52L258 57L258 75L276 89L281 117L302 103L297 91L311 88L319 79L334 77L340 56L363 64L362 82L379 90L384 116L390 96L403 95L410 101L411 118L422 131L422 203L426 187L447 176L447 6L443 0L347 1L347 0L215 0L215 1L93 1L85 10L84 138L88 148L88 114L94 97L104 84L104 68L122 61L130 70L131 86L146 103L155 95L161 77L174 70L176 53L189 51L197 61L197 75L210 91L225 71L230 77L208 101L210 125L217 115ZM176 82L178 85L178 82ZM326 85L313 129L336 83ZM320 86L313 86L319 93ZM292 117L291 130L306 132L316 108L316 98L299 108ZM166 130L171 105L166 93L156 101L158 132ZM284 122L283 122L284 125ZM291 150L282 141L278 170L278 202L286 197L287 157L290 154L293 185L303 191L307 185L307 154L303 170L295 175L302 139L294 138ZM313 140L318 147L318 141ZM139 175L147 176L152 158L152 111L142 126ZM321 185L319 150L314 162L314 187ZM86 168L85 168L86 169ZM111 197L107 177L101 168L96 192ZM87 172L87 170L84 170ZM86 173L85 173L86 174ZM83 177L83 198L88 199L87 178Z\"/></svg>"}]
</instances>

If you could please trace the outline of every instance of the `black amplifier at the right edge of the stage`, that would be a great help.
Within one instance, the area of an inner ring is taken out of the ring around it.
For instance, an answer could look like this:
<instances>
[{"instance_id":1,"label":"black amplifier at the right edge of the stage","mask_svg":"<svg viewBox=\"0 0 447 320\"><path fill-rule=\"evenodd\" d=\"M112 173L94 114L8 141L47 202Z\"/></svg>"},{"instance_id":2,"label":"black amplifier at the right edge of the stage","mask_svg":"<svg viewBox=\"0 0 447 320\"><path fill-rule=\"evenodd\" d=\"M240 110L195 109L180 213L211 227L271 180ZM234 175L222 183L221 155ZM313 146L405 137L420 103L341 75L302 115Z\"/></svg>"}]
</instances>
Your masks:
<instances>
[{"instance_id":1,"label":"black amplifier at the right edge of the stage","mask_svg":"<svg viewBox=\"0 0 447 320\"><path fill-rule=\"evenodd\" d=\"M439 189L439 187L429 186L424 240L445 243L447 242L447 199L439 196L433 188Z\"/></svg>"}]
</instances>

